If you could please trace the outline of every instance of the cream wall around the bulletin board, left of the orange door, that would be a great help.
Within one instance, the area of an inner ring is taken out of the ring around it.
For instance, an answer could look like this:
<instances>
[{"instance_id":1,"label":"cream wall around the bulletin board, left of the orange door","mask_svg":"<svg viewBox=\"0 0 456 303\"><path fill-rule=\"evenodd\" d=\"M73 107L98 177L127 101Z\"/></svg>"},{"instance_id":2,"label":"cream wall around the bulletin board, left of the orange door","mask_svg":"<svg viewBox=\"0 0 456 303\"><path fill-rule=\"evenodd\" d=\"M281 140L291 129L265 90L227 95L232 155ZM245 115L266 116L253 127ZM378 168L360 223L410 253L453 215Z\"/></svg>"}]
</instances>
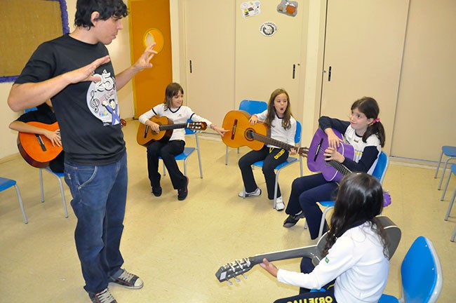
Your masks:
<instances>
[{"instance_id":1,"label":"cream wall around the bulletin board, left of the orange door","mask_svg":"<svg viewBox=\"0 0 456 303\"><path fill-rule=\"evenodd\" d=\"M74 28L74 13L76 13L76 0L67 0L67 8L69 28L72 31ZM123 69L131 65L128 17L122 23L123 29L119 32L117 39L107 46L116 73L123 71ZM6 156L18 153L16 145L17 132L8 128L9 123L20 116L20 113L13 112L6 103L12 85L13 83L0 83L0 160ZM133 87L131 83L119 90L118 97L121 117L123 119L133 117Z\"/></svg>"}]
</instances>

